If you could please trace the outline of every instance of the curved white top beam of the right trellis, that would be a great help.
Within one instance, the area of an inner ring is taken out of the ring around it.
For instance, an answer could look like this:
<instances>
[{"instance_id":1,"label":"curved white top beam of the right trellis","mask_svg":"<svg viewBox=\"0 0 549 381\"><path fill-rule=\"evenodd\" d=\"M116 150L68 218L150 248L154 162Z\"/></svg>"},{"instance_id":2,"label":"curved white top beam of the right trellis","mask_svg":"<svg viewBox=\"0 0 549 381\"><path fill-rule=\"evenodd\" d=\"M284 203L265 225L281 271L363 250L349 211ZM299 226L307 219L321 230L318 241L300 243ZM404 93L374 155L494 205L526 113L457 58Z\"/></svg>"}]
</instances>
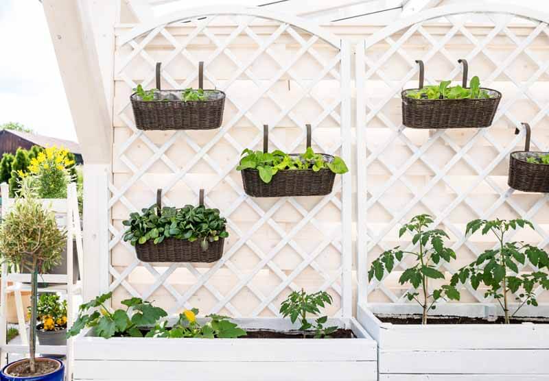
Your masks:
<instances>
[{"instance_id":1,"label":"curved white top beam of the right trellis","mask_svg":"<svg viewBox=\"0 0 549 381\"><path fill-rule=\"evenodd\" d=\"M524 17L524 19L531 19L534 21L541 21L542 23L549 23L549 14L546 12L540 12L526 7L517 5L502 4L495 6L495 4L477 4L477 3L465 3L460 5L448 5L445 7L432 8L414 14L406 19L401 19L395 23L391 23L387 27L372 34L369 38L366 38L365 49L368 49L372 45L376 44L380 40L390 36L391 34L398 32L400 29L410 27L411 25L436 19L443 16L452 16L453 14L464 13L493 13L493 14L513 14L515 16Z\"/></svg>"}]
</instances>

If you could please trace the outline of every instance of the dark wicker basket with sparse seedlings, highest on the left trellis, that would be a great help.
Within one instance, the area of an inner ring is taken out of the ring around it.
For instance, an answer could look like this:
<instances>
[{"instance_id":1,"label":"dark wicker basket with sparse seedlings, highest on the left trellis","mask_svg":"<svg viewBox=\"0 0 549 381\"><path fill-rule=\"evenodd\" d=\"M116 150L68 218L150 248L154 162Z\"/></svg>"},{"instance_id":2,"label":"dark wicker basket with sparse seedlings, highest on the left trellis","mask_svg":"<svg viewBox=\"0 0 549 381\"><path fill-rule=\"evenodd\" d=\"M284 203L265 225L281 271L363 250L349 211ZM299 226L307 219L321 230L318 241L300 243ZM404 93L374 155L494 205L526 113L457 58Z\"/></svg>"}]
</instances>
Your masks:
<instances>
[{"instance_id":1,"label":"dark wicker basket with sparse seedlings, highest on the left trellis","mask_svg":"<svg viewBox=\"0 0 549 381\"><path fill-rule=\"evenodd\" d=\"M160 66L156 64L154 101L142 101L136 93L130 96L135 125L139 130L213 130L221 127L225 108L225 93L204 90L205 101L182 101L183 90L161 91ZM204 86L203 62L199 64L198 87ZM169 99L169 100L164 100Z\"/></svg>"}]
</instances>

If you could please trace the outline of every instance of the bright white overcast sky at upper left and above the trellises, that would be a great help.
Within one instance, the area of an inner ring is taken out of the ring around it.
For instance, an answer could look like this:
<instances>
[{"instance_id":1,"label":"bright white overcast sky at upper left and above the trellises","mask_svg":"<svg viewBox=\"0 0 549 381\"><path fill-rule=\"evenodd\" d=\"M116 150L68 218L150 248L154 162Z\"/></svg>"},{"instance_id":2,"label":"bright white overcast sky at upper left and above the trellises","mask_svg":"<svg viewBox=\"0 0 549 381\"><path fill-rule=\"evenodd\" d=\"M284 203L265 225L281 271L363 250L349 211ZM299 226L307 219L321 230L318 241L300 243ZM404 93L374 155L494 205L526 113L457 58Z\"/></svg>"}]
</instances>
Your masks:
<instances>
[{"instance_id":1,"label":"bright white overcast sky at upper left and above the trellises","mask_svg":"<svg viewBox=\"0 0 549 381\"><path fill-rule=\"evenodd\" d=\"M549 11L549 0L512 1ZM268 2L202 0L200 5ZM498 0L492 2L500 3ZM194 4L182 1L159 11L170 12L181 5L189 8L196 6ZM0 124L19 122L38 134L76 140L54 48L38 0L0 0L0 49Z\"/></svg>"}]
</instances>

